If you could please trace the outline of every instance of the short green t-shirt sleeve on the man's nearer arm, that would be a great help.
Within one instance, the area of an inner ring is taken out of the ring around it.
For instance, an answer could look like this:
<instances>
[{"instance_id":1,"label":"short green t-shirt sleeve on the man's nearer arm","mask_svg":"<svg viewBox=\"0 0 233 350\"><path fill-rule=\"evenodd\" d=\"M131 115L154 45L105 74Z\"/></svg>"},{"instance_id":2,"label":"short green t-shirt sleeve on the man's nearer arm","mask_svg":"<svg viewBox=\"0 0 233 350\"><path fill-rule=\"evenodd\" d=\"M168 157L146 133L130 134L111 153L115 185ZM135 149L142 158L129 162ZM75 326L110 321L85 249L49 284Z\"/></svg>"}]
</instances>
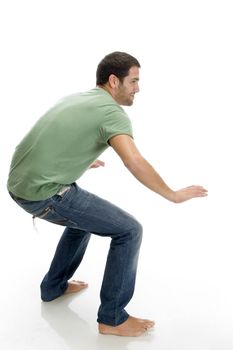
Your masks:
<instances>
[{"instance_id":1,"label":"short green t-shirt sleeve on the man's nearer arm","mask_svg":"<svg viewBox=\"0 0 233 350\"><path fill-rule=\"evenodd\" d=\"M115 112L105 117L100 127L101 139L108 143L109 139L116 135L129 135L133 137L132 123L124 112Z\"/></svg>"}]
</instances>

